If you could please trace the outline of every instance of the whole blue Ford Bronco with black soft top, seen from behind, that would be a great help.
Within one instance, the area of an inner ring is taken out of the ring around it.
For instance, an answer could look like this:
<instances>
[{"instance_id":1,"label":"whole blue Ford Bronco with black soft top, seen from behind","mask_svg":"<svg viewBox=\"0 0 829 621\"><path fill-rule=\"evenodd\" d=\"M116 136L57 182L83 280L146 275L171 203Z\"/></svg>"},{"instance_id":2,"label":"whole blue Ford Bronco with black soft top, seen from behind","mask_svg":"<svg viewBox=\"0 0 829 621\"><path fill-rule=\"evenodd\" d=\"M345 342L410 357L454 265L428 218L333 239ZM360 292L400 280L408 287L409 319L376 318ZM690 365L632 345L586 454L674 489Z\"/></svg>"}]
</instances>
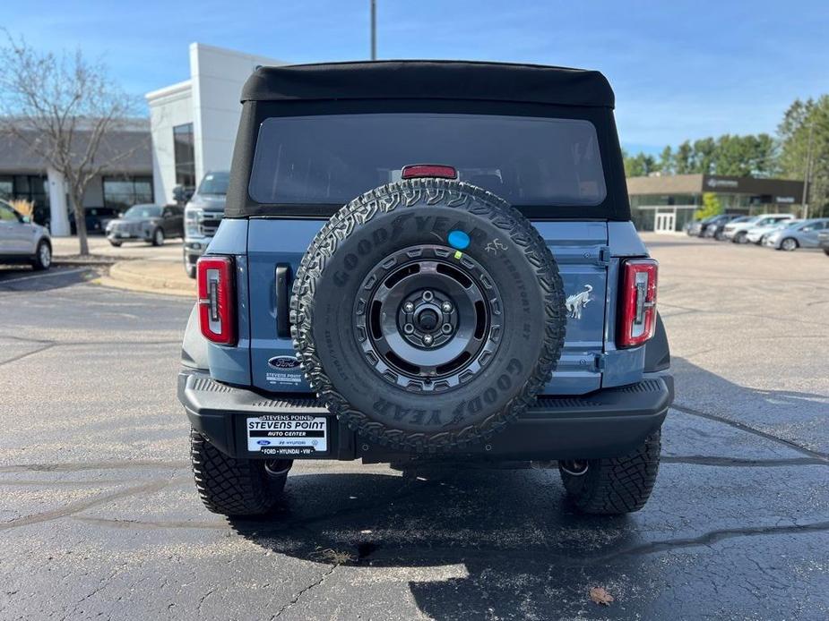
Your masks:
<instances>
[{"instance_id":1,"label":"whole blue Ford Bronco with black soft top, seen from behind","mask_svg":"<svg viewBox=\"0 0 829 621\"><path fill-rule=\"evenodd\" d=\"M178 376L205 506L361 459L557 463L583 512L640 509L673 380L608 81L306 64L241 99Z\"/></svg>"}]
</instances>

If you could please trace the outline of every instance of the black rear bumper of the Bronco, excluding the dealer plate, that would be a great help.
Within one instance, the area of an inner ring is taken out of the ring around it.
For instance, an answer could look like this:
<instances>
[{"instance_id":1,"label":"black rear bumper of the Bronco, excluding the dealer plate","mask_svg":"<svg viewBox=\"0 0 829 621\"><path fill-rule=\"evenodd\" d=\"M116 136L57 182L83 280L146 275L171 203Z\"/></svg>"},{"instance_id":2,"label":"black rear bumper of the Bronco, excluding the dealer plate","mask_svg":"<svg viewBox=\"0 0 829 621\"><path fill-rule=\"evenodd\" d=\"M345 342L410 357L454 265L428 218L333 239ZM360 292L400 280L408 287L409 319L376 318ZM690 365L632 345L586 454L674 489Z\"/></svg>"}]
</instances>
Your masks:
<instances>
[{"instance_id":1,"label":"black rear bumper of the Bronco, excluding the dealer plate","mask_svg":"<svg viewBox=\"0 0 829 621\"><path fill-rule=\"evenodd\" d=\"M589 459L625 455L659 429L673 402L673 378L645 374L643 381L584 396L540 396L506 430L486 444L454 456L493 460ZM331 418L329 453L323 459L395 462L409 455L370 444L313 397L272 395L214 381L203 371L182 370L178 399L194 429L223 453L251 457L241 419L251 414L313 414ZM264 457L263 457L264 458ZM315 456L315 459L321 457Z\"/></svg>"}]
</instances>

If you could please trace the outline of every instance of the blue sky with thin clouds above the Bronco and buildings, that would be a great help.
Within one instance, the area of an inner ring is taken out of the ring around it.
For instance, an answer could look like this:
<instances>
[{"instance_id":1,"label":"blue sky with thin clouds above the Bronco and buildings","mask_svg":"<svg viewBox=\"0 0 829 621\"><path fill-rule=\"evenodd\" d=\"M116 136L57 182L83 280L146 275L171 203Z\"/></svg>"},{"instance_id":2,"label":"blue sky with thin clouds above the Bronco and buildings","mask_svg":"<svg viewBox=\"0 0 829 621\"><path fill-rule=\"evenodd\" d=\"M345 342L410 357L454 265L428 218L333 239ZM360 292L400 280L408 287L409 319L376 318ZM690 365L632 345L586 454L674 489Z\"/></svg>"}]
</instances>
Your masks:
<instances>
[{"instance_id":1,"label":"blue sky with thin clouds above the Bronco and buildings","mask_svg":"<svg viewBox=\"0 0 829 621\"><path fill-rule=\"evenodd\" d=\"M289 62L363 59L368 0L3 3L31 45L80 47L136 94L188 76L200 41ZM829 2L377 0L380 58L598 69L627 149L774 132L794 98L829 93Z\"/></svg>"}]
</instances>

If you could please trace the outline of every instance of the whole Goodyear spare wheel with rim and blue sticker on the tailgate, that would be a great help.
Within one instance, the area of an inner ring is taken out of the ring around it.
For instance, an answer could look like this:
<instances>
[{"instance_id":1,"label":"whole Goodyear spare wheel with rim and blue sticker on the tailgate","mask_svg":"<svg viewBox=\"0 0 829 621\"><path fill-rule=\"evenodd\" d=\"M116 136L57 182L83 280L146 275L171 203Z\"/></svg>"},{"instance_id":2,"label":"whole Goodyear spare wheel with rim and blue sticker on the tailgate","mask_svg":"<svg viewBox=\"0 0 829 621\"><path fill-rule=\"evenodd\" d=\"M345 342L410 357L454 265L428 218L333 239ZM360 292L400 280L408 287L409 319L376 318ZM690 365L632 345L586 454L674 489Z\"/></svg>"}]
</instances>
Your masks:
<instances>
[{"instance_id":1,"label":"whole Goodyear spare wheel with rim and blue sticker on the tailgate","mask_svg":"<svg viewBox=\"0 0 829 621\"><path fill-rule=\"evenodd\" d=\"M462 448L522 413L565 338L565 295L538 231L468 183L414 179L340 209L291 297L301 368L376 443Z\"/></svg>"}]
</instances>

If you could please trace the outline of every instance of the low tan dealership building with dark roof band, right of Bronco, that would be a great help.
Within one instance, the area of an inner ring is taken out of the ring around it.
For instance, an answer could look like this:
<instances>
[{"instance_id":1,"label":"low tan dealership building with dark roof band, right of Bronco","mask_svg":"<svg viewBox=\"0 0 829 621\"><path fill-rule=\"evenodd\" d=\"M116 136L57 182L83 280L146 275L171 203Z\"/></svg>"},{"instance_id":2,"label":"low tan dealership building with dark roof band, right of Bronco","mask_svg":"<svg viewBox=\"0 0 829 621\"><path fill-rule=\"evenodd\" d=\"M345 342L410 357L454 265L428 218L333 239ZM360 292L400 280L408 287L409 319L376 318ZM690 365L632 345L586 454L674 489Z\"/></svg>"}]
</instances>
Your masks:
<instances>
[{"instance_id":1,"label":"low tan dealership building with dark roof band, right of Bronco","mask_svg":"<svg viewBox=\"0 0 829 621\"><path fill-rule=\"evenodd\" d=\"M640 231L673 233L692 219L703 195L714 194L725 213L799 213L803 182L713 174L668 174L629 177L631 215Z\"/></svg>"}]
</instances>

